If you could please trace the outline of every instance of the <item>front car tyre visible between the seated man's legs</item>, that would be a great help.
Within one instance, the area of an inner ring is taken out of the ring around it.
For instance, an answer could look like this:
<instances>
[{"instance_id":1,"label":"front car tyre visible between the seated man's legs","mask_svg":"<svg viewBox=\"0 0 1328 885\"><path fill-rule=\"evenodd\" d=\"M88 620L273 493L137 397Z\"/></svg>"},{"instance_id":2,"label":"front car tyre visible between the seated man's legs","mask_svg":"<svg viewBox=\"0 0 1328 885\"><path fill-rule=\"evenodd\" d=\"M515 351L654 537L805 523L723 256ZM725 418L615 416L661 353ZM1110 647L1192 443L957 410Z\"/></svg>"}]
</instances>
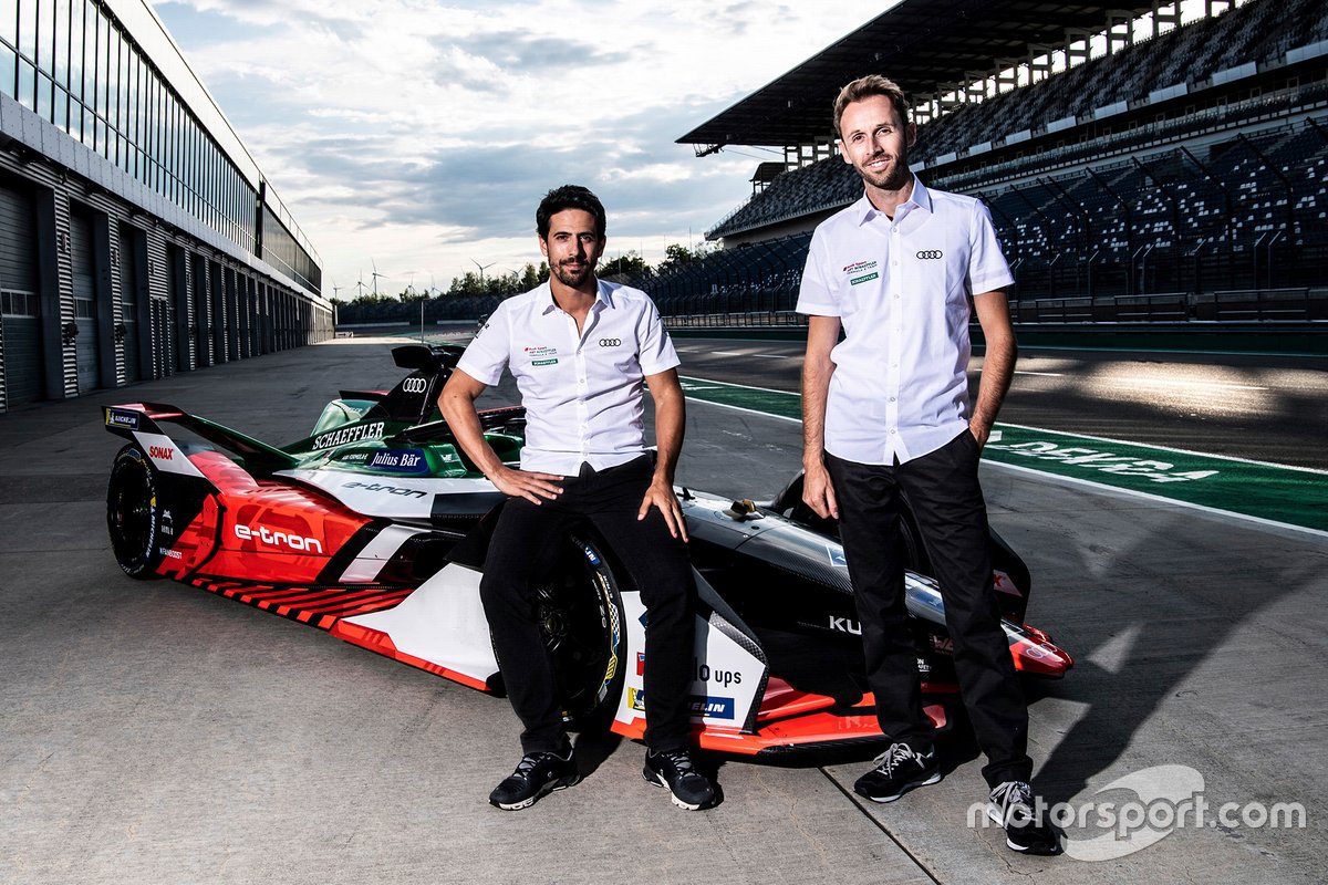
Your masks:
<instances>
[{"instance_id":1,"label":"front car tyre visible between the seated man's legs","mask_svg":"<svg viewBox=\"0 0 1328 885\"><path fill-rule=\"evenodd\" d=\"M570 536L537 590L540 634L572 731L606 724L622 689L627 649L618 581L600 548Z\"/></svg>"}]
</instances>

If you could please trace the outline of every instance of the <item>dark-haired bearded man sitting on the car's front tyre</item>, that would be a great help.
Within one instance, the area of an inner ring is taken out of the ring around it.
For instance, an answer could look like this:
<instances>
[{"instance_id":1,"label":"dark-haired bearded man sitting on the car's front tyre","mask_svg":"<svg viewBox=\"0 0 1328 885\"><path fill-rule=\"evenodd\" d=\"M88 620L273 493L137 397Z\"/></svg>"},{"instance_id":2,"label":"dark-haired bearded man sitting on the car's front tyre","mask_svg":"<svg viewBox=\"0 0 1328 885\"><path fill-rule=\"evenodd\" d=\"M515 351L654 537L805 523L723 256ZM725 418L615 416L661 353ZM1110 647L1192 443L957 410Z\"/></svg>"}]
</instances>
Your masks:
<instances>
[{"instance_id":1,"label":"dark-haired bearded man sitting on the car's front tyre","mask_svg":"<svg viewBox=\"0 0 1328 885\"><path fill-rule=\"evenodd\" d=\"M522 722L521 764L490 793L527 808L580 780L539 629L535 590L566 529L588 523L647 608L645 780L687 809L714 804L688 743L695 638L687 525L673 495L685 413L673 342L639 289L595 277L606 218L584 187L550 191L535 212L548 280L498 305L438 399L457 442L503 494L479 594L503 685ZM510 369L526 406L521 467L485 441L475 398ZM655 401L652 456L641 382Z\"/></svg>"}]
</instances>

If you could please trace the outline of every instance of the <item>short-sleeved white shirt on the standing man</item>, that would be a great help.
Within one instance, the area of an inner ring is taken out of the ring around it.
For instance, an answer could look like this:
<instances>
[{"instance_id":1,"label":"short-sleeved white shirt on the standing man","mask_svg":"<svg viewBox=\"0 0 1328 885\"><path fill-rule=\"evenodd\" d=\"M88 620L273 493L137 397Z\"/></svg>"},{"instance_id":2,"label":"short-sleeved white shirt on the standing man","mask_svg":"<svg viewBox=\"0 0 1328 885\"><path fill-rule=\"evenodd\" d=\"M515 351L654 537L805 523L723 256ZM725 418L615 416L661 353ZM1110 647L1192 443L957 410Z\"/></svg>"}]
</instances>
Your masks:
<instances>
[{"instance_id":1,"label":"short-sleeved white shirt on the standing man","mask_svg":"<svg viewBox=\"0 0 1328 885\"><path fill-rule=\"evenodd\" d=\"M798 313L839 317L825 447L862 464L903 463L968 426L972 295L1015 281L980 200L912 195L891 220L866 194L811 236Z\"/></svg>"}]
</instances>

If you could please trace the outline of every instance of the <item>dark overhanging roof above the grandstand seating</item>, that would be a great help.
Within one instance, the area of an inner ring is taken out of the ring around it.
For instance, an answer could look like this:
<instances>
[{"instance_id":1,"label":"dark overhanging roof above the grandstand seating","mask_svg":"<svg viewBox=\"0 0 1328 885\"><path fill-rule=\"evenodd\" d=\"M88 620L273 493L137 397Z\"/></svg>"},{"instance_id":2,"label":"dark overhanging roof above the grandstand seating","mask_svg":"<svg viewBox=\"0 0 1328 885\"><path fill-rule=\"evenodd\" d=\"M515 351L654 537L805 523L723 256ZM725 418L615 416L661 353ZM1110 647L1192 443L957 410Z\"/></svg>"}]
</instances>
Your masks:
<instances>
[{"instance_id":1,"label":"dark overhanging roof above the grandstand seating","mask_svg":"<svg viewBox=\"0 0 1328 885\"><path fill-rule=\"evenodd\" d=\"M912 96L952 89L999 58L1027 58L1069 31L1101 31L1110 13L1151 4L1035 0L903 0L786 74L677 139L680 145L801 145L830 134L830 102L867 73L886 73Z\"/></svg>"}]
</instances>

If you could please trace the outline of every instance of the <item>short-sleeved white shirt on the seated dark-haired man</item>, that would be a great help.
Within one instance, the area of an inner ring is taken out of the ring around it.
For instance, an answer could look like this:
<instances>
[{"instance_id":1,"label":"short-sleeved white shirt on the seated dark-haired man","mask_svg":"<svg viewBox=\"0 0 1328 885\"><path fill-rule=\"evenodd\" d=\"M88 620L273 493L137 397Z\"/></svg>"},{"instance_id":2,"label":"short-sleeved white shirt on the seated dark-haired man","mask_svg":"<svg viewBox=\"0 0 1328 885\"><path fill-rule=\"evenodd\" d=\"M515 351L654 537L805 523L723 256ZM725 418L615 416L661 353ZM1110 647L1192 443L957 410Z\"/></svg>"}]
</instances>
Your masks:
<instances>
[{"instance_id":1,"label":"short-sleeved white shirt on the seated dark-haired man","mask_svg":"<svg viewBox=\"0 0 1328 885\"><path fill-rule=\"evenodd\" d=\"M510 369L526 406L522 468L575 476L647 451L643 378L677 364L649 296L599 280L580 334L546 281L499 304L457 365L490 386Z\"/></svg>"}]
</instances>

